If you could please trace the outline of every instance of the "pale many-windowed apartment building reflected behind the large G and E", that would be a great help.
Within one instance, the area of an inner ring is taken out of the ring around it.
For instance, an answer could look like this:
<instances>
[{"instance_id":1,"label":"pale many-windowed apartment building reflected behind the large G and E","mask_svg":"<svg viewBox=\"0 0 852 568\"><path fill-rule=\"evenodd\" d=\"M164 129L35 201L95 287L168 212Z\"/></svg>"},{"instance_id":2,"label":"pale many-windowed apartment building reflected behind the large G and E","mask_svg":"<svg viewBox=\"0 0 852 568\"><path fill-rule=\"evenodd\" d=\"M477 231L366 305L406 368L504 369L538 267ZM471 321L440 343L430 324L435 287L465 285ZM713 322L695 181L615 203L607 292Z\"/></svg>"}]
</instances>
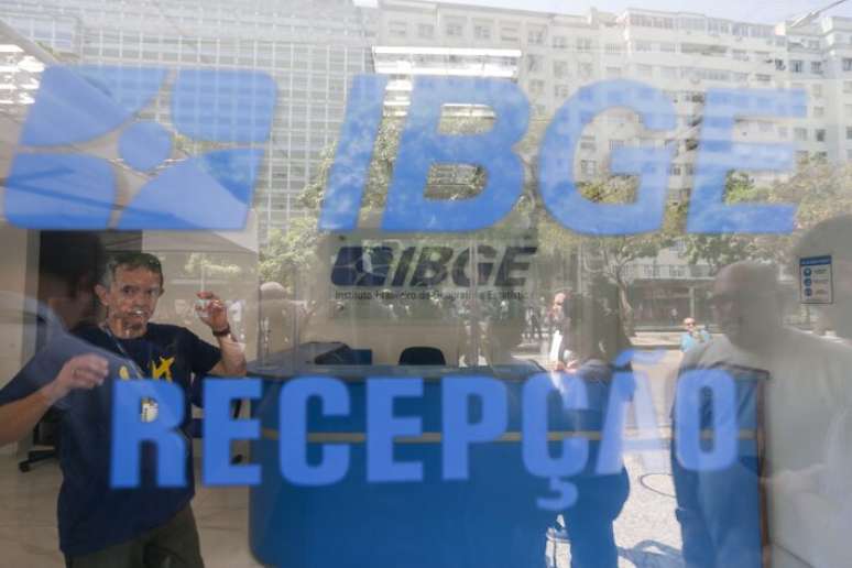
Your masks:
<instances>
[{"instance_id":1,"label":"pale many-windowed apartment building reflected behind the large G and E","mask_svg":"<svg viewBox=\"0 0 852 568\"><path fill-rule=\"evenodd\" d=\"M627 109L612 109L583 132L575 172L592 179L609 168L621 146L675 149L669 167L669 198L686 200L695 175L704 94L709 88L784 89L807 92L805 117L739 120L734 139L743 142L793 142L798 159L844 161L852 156L852 20L822 18L777 25L739 22L698 13L630 9L622 14L591 10L565 15L436 3L382 0L375 52L406 59L407 51L516 50L517 73L510 78L525 90L534 119L547 121L585 85L612 78L643 81L663 90L675 105L674 130L645 129ZM456 58L448 66L460 66ZM397 66L394 73L406 68ZM389 70L390 73L390 70ZM844 79L844 73L849 79ZM413 74L415 75L415 74ZM397 75L398 77L398 75ZM760 183L783 177L753 172ZM710 282L707 265L690 266L682 243L625 270L638 320L681 314L707 316L702 302Z\"/></svg>"}]
</instances>

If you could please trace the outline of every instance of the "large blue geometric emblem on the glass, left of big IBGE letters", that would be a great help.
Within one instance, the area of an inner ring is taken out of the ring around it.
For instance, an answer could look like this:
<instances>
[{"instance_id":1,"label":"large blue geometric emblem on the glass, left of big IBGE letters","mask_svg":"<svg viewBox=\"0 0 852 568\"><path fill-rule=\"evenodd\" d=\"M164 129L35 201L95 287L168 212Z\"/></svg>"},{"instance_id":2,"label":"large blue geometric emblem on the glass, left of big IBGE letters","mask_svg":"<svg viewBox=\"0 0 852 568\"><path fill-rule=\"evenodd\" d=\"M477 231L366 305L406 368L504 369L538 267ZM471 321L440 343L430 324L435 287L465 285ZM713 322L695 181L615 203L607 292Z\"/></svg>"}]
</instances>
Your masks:
<instances>
[{"instance_id":1,"label":"large blue geometric emblem on the glass, left of big IBGE letters","mask_svg":"<svg viewBox=\"0 0 852 568\"><path fill-rule=\"evenodd\" d=\"M171 129L139 119L168 96ZM48 67L6 182L7 219L29 229L242 229L275 98L272 78L250 70ZM176 139L210 149L185 156ZM121 204L129 186L140 187Z\"/></svg>"}]
</instances>

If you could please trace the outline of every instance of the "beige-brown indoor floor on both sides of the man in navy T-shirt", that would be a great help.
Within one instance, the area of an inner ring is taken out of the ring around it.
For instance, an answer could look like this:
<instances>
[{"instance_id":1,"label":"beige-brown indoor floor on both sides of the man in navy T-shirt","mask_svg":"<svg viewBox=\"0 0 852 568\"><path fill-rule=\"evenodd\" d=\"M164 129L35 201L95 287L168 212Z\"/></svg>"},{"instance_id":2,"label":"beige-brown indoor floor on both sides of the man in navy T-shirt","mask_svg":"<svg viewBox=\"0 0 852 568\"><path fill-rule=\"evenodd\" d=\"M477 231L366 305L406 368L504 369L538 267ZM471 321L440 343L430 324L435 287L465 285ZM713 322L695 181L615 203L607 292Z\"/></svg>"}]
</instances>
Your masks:
<instances>
[{"instance_id":1,"label":"beige-brown indoor floor on both sides of the man in navy T-shirt","mask_svg":"<svg viewBox=\"0 0 852 568\"><path fill-rule=\"evenodd\" d=\"M0 566L64 567L56 533L58 465L40 463L21 473L18 460L0 456ZM249 551L248 502L247 488L198 488L193 510L208 568L261 566Z\"/></svg>"}]
</instances>

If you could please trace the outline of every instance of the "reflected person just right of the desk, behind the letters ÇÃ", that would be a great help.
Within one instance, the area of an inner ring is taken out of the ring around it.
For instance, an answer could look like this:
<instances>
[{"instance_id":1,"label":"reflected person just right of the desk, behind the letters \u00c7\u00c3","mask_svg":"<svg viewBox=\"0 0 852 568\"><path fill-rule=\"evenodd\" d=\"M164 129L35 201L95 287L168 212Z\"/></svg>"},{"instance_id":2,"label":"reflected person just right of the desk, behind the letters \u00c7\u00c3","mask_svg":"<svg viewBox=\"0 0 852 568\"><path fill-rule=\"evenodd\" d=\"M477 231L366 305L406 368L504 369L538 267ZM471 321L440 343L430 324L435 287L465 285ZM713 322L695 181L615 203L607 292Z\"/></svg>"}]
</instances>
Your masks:
<instances>
[{"instance_id":1,"label":"reflected person just right of the desk, behind the letters \u00c7\u00c3","mask_svg":"<svg viewBox=\"0 0 852 568\"><path fill-rule=\"evenodd\" d=\"M599 433L603 429L610 387L615 367L613 360L630 348L621 320L596 301L572 295L562 306L564 342L570 360L564 362L567 372L583 381L588 406L567 413L566 428ZM598 473L599 445L590 440L587 466L570 478L577 487L577 502L561 512L571 543L574 568L618 566L618 549L612 523L621 513L630 492L627 471Z\"/></svg>"}]
</instances>

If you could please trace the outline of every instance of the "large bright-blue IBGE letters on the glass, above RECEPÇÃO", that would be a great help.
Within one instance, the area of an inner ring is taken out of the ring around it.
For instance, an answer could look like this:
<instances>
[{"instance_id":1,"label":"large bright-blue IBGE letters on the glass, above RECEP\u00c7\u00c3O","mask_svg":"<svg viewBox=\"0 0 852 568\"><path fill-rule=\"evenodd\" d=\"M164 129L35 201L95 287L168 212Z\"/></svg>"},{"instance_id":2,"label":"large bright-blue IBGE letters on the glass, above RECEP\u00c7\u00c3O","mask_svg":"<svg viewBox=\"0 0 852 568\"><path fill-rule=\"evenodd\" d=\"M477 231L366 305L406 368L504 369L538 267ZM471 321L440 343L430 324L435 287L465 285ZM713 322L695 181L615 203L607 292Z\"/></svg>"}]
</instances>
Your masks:
<instances>
[{"instance_id":1,"label":"large bright-blue IBGE letters on the glass, above RECEP\u00c7\u00c3O","mask_svg":"<svg viewBox=\"0 0 852 568\"><path fill-rule=\"evenodd\" d=\"M319 228L351 231L368 178L372 149L382 120L387 77L356 77L346 121L326 188ZM492 109L488 132L454 135L439 129L445 105L479 105ZM538 150L538 189L550 214L565 228L586 234L655 231L663 223L667 172L675 148L619 148L611 155L614 174L638 177L631 203L602 204L580 193L574 156L583 129L611 108L627 108L651 132L676 125L671 100L660 90L632 80L607 80L580 88L556 111ZM793 204L727 204L725 175L732 170L790 170L794 145L735 141L742 118L797 118L806 114L804 90L708 89L699 135L695 183L687 230L697 233L789 232ZM521 196L524 165L515 153L529 122L529 105L521 87L502 79L417 77L387 189L382 229L387 231L473 231L505 217ZM675 132L673 132L675 134ZM673 138L677 138L676 135ZM434 164L476 164L488 179L468 199L433 199L426 179Z\"/></svg>"}]
</instances>

